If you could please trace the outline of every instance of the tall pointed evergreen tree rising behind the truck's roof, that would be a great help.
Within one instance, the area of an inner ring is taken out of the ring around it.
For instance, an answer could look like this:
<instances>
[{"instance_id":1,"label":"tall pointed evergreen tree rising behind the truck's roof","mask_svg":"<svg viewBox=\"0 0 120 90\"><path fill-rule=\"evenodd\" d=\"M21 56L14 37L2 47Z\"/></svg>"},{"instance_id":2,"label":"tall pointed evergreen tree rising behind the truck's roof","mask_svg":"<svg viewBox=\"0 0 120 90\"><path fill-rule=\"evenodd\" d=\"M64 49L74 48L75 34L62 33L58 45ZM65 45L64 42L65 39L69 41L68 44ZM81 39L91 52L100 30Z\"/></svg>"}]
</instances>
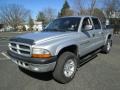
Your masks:
<instances>
[{"instance_id":1,"label":"tall pointed evergreen tree rising behind the truck's roof","mask_svg":"<svg viewBox=\"0 0 120 90\"><path fill-rule=\"evenodd\" d=\"M70 9L67 0L65 0L61 12L59 13L59 16L63 17L63 16L71 16L71 15L73 15L73 11Z\"/></svg>"}]
</instances>

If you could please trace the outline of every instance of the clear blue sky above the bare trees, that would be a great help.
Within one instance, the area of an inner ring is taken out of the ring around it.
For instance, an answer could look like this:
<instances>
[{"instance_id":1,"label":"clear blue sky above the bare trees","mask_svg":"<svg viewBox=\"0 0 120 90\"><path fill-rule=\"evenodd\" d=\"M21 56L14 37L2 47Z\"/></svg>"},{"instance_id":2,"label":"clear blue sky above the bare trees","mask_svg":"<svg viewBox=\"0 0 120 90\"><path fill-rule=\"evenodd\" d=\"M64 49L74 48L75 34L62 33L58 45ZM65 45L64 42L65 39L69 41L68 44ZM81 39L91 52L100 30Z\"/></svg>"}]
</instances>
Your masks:
<instances>
[{"instance_id":1,"label":"clear blue sky above the bare trees","mask_svg":"<svg viewBox=\"0 0 120 90\"><path fill-rule=\"evenodd\" d=\"M89 0L85 0L89 2ZM86 2L86 3L87 3ZM56 11L56 14L62 8L64 0L0 0L0 6L7 4L18 4L31 11L32 17L35 19L38 12L45 8L52 8ZM68 0L68 3L72 7L72 0Z\"/></svg>"}]
</instances>

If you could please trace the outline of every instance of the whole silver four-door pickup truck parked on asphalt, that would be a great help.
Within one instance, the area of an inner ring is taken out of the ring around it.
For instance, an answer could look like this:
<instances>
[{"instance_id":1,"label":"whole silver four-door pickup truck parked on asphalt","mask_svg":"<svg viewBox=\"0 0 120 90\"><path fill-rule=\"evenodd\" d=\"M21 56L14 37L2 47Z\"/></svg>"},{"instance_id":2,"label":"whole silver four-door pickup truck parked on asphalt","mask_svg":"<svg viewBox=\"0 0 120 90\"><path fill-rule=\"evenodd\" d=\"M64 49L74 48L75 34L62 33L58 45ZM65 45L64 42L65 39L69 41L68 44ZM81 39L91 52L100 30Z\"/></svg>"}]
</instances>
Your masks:
<instances>
[{"instance_id":1,"label":"whole silver four-door pickup truck parked on asphalt","mask_svg":"<svg viewBox=\"0 0 120 90\"><path fill-rule=\"evenodd\" d=\"M52 71L55 80L67 83L85 61L81 57L98 49L109 53L112 35L112 29L103 29L97 17L63 17L52 21L42 32L11 38L8 55L24 69Z\"/></svg>"}]
</instances>

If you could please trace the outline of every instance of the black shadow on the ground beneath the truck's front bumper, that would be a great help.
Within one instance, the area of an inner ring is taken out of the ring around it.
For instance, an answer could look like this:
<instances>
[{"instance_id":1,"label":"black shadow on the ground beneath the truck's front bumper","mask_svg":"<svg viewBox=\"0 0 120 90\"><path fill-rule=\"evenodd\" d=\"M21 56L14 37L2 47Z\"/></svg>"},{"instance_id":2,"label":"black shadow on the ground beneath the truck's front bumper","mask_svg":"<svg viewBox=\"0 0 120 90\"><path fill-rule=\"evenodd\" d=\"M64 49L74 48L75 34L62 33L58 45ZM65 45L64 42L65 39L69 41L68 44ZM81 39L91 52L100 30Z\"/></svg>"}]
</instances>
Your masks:
<instances>
[{"instance_id":1,"label":"black shadow on the ground beneath the truck's front bumper","mask_svg":"<svg viewBox=\"0 0 120 90\"><path fill-rule=\"evenodd\" d=\"M43 81L50 81L53 79L52 72L47 72L47 73L37 73L37 72L32 72L29 70L26 70L22 67L19 67L20 71L23 73L27 74L28 76L32 78L36 78L38 80L43 80Z\"/></svg>"}]
</instances>

